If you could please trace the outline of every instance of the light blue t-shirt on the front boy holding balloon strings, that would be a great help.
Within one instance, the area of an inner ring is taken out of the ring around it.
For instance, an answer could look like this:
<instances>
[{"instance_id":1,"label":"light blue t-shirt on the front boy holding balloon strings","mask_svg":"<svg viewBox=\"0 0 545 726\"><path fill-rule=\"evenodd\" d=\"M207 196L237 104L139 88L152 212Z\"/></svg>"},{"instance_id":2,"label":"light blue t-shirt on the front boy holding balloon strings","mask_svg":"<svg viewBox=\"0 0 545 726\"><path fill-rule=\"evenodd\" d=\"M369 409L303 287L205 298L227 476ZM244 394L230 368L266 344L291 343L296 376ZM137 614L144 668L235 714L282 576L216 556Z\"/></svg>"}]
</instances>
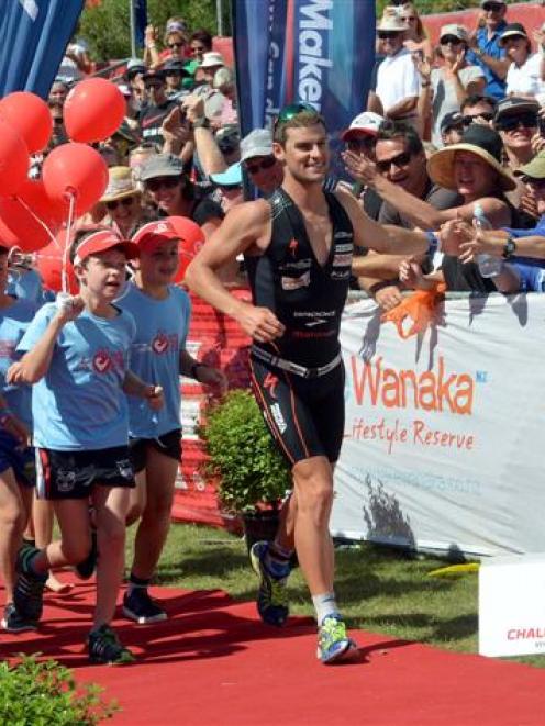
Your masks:
<instances>
[{"instance_id":1,"label":"light blue t-shirt on the front boy holding balloon strings","mask_svg":"<svg viewBox=\"0 0 545 726\"><path fill-rule=\"evenodd\" d=\"M56 312L45 304L18 350L33 348ZM51 366L33 387L34 445L60 451L105 449L129 442L122 384L136 332L133 316L105 319L84 310L58 334Z\"/></svg>"}]
</instances>

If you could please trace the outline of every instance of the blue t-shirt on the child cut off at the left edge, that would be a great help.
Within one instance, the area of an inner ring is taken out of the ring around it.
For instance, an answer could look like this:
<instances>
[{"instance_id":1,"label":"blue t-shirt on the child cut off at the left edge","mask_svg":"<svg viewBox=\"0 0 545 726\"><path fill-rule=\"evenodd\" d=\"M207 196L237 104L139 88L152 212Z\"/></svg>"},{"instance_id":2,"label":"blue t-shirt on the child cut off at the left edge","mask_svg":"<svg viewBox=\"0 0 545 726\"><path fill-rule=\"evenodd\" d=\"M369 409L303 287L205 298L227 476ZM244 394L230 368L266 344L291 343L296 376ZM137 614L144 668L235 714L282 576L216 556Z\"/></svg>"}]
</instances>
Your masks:
<instances>
[{"instance_id":1,"label":"blue t-shirt on the child cut off at the left edge","mask_svg":"<svg viewBox=\"0 0 545 726\"><path fill-rule=\"evenodd\" d=\"M27 300L19 299L9 308L0 310L0 381L2 395L10 411L18 418L21 418L30 429L32 429L32 388L30 386L8 386L5 373L11 364L21 358L21 355L16 353L16 347L35 312L36 305Z\"/></svg>"}]
</instances>

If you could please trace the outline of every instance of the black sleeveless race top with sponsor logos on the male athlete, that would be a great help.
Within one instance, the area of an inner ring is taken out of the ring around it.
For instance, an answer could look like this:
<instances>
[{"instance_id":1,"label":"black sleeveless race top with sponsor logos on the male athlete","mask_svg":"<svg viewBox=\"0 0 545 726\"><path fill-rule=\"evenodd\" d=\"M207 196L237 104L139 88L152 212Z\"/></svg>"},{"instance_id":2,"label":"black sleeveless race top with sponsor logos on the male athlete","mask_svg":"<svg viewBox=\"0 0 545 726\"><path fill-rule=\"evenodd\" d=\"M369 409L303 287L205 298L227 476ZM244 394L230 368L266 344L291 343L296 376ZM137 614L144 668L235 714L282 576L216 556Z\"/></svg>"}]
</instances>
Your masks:
<instances>
[{"instance_id":1,"label":"black sleeveless race top with sponsor logos on the male athlete","mask_svg":"<svg viewBox=\"0 0 545 726\"><path fill-rule=\"evenodd\" d=\"M334 194L324 196L332 243L323 266L315 258L301 212L281 188L267 200L270 244L263 255L245 258L254 304L271 310L286 326L282 337L259 347L308 368L325 366L340 351L354 247L348 214Z\"/></svg>"}]
</instances>

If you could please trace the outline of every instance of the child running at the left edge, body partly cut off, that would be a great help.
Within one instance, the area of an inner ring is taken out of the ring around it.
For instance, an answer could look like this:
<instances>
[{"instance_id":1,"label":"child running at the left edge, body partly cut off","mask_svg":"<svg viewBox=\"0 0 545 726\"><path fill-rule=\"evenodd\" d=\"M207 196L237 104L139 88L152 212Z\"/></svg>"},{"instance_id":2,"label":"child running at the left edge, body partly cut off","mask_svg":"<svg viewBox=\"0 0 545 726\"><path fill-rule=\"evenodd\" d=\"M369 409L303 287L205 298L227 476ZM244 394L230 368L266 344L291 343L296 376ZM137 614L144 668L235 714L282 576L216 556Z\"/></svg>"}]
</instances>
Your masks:
<instances>
[{"instance_id":1,"label":"child running at the left edge, body partly cut off","mask_svg":"<svg viewBox=\"0 0 545 726\"><path fill-rule=\"evenodd\" d=\"M34 451L31 388L7 386L5 373L18 359L15 349L34 317L36 306L5 292L9 250L0 246L0 576L5 588L2 627L11 633L34 629L13 604L15 558L32 506Z\"/></svg>"}]
</instances>

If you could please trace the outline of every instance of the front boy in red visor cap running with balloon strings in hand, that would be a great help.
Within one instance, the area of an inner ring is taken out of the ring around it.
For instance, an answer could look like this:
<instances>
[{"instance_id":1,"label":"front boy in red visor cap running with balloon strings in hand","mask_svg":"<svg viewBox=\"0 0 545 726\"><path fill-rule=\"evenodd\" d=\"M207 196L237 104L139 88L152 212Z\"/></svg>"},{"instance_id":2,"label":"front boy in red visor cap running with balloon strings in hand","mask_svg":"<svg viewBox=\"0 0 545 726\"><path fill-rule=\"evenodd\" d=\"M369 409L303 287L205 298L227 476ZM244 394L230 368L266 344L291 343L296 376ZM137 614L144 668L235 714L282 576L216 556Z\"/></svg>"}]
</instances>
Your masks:
<instances>
[{"instance_id":1,"label":"front boy in red visor cap running with balloon strings in hand","mask_svg":"<svg viewBox=\"0 0 545 726\"><path fill-rule=\"evenodd\" d=\"M127 368L135 334L132 315L113 305L125 264L137 247L111 230L82 231L73 246L77 297L44 305L24 335L25 351L9 380L33 383L32 413L38 495L54 502L62 539L27 547L18 558L14 603L37 623L52 568L76 565L90 549L89 498L96 510L99 562L94 622L88 639L93 662L126 663L110 623L124 566L125 516L134 487L124 393L163 405L159 387Z\"/></svg>"}]
</instances>

